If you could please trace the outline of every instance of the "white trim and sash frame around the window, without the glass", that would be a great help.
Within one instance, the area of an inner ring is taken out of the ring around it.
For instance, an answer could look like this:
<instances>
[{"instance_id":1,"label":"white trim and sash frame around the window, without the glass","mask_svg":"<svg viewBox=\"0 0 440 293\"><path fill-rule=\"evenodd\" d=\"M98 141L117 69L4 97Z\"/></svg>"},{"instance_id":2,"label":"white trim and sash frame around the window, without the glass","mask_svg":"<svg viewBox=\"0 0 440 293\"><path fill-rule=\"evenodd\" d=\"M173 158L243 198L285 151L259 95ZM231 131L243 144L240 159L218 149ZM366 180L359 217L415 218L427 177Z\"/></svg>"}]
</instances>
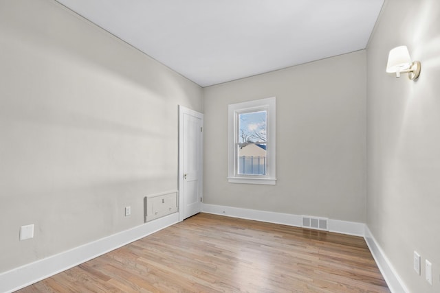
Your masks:
<instances>
[{"instance_id":1,"label":"white trim and sash frame around the window, without the glass","mask_svg":"<svg viewBox=\"0 0 440 293\"><path fill-rule=\"evenodd\" d=\"M238 137L238 121L236 121L237 113L243 113L250 110L267 110L267 169L266 175L241 175L236 174L237 160L235 139ZM245 184L264 184L275 185L276 183L276 99L275 97L267 97L266 99L256 99L249 102L241 102L230 104L228 107L229 119L229 141L228 141L228 182L229 183L245 183Z\"/></svg>"}]
</instances>

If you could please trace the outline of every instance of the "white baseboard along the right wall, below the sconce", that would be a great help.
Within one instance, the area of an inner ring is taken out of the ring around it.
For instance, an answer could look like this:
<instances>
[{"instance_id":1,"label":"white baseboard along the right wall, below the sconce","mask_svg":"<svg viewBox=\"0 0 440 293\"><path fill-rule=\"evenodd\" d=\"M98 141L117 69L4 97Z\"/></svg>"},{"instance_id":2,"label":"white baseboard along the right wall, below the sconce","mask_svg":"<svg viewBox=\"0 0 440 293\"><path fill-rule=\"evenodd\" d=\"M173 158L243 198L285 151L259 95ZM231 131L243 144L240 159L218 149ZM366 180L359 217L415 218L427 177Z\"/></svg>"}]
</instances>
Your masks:
<instances>
[{"instance_id":1,"label":"white baseboard along the right wall, below the sconce","mask_svg":"<svg viewBox=\"0 0 440 293\"><path fill-rule=\"evenodd\" d=\"M393 293L408 293L410 292L404 282L400 279L399 274L397 274L391 262L386 257L382 248L377 244L376 239L371 234L368 226L365 226L365 242L369 246L371 255L373 255L374 260L377 263L382 276Z\"/></svg>"}]
</instances>

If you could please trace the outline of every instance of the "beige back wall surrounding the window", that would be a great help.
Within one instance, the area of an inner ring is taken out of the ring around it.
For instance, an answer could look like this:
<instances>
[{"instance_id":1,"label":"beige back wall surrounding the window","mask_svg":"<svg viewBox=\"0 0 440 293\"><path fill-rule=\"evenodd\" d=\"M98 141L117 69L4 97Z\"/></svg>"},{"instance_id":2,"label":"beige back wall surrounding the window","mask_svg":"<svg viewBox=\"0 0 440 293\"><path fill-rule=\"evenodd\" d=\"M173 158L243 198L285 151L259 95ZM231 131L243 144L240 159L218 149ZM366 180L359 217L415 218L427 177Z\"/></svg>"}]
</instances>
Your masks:
<instances>
[{"instance_id":1,"label":"beige back wall surrounding the window","mask_svg":"<svg viewBox=\"0 0 440 293\"><path fill-rule=\"evenodd\" d=\"M204 91L203 202L365 222L366 54ZM276 97L275 186L228 183L228 104Z\"/></svg>"}]
</instances>

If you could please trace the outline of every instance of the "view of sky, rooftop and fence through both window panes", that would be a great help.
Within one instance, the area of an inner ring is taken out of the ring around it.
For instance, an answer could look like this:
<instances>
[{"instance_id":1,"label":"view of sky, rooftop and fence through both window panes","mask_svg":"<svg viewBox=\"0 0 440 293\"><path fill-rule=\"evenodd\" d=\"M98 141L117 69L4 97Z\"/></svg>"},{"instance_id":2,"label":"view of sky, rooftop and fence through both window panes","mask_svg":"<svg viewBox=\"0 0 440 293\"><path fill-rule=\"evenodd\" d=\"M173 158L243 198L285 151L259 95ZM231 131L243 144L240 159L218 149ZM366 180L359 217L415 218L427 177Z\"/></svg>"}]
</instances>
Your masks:
<instances>
[{"instance_id":1,"label":"view of sky, rooftop and fence through both window panes","mask_svg":"<svg viewBox=\"0 0 440 293\"><path fill-rule=\"evenodd\" d=\"M239 114L239 174L266 174L267 110Z\"/></svg>"}]
</instances>

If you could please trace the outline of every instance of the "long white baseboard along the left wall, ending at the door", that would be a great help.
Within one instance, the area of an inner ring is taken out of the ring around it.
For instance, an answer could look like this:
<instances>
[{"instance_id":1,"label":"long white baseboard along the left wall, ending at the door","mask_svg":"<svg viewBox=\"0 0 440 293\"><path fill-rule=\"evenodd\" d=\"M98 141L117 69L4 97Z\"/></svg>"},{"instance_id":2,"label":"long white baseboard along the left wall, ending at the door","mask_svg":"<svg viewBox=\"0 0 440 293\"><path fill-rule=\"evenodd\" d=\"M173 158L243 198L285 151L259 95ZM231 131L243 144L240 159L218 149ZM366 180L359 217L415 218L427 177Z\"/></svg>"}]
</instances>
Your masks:
<instances>
[{"instance_id":1,"label":"long white baseboard along the left wall, ending at the door","mask_svg":"<svg viewBox=\"0 0 440 293\"><path fill-rule=\"evenodd\" d=\"M29 263L0 274L0 292L13 292L80 263L94 259L137 239L179 222L179 213L147 222L120 233L78 246L58 255Z\"/></svg>"}]
</instances>

